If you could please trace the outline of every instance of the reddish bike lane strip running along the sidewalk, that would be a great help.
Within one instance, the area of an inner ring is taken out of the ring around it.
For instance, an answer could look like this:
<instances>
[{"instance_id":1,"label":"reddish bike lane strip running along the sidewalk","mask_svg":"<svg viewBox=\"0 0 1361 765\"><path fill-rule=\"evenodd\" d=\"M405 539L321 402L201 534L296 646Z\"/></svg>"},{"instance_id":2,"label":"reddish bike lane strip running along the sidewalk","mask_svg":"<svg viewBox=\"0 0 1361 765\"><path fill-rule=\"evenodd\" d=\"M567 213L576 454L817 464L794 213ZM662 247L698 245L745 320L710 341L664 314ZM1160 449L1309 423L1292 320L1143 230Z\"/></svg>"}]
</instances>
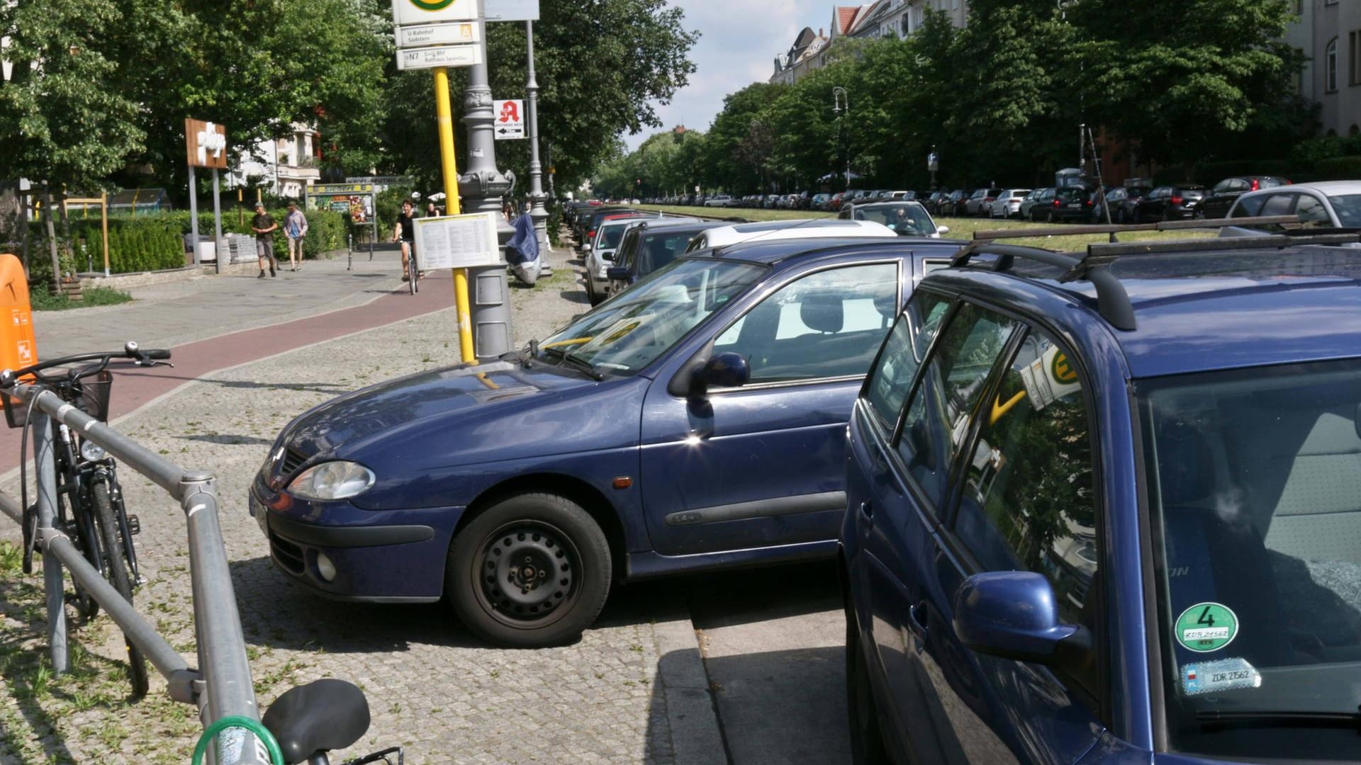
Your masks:
<instances>
[{"instance_id":1,"label":"reddish bike lane strip running along the sidewalk","mask_svg":"<svg viewBox=\"0 0 1361 765\"><path fill-rule=\"evenodd\" d=\"M442 272L445 276L448 272ZM140 368L131 363L112 365L114 373L113 395L109 402L109 421L131 414L148 402L199 380L214 372L259 361L275 354L332 340L354 332L373 329L395 321L403 321L436 310L453 308L453 286L450 279L431 275L421 280L421 291L400 291L382 295L369 304L317 313L306 319L242 329L206 340L196 340L171 347L170 362L174 368ZM450 335L456 331L450 323ZM158 347L154 342L144 347ZM98 351L102 348L88 348ZM114 348L109 348L114 350ZM42 359L39 342L38 358ZM20 429L0 429L0 472L19 466ZM33 459L33 444L29 444L29 459Z\"/></svg>"}]
</instances>

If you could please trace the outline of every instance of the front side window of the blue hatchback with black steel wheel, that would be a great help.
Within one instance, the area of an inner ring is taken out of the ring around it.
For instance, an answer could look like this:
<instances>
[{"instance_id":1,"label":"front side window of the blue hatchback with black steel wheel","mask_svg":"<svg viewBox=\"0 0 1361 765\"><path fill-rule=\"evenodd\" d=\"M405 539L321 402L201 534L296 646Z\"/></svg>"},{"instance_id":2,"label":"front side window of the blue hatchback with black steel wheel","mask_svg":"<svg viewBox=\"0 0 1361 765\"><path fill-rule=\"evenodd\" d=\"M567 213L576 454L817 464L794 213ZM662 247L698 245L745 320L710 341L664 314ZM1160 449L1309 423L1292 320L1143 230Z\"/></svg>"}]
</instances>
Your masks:
<instances>
[{"instance_id":1,"label":"front side window of the blue hatchback with black steel wheel","mask_svg":"<svg viewBox=\"0 0 1361 765\"><path fill-rule=\"evenodd\" d=\"M713 350L746 357L749 384L859 376L897 312L897 263L818 271L761 301Z\"/></svg>"}]
</instances>

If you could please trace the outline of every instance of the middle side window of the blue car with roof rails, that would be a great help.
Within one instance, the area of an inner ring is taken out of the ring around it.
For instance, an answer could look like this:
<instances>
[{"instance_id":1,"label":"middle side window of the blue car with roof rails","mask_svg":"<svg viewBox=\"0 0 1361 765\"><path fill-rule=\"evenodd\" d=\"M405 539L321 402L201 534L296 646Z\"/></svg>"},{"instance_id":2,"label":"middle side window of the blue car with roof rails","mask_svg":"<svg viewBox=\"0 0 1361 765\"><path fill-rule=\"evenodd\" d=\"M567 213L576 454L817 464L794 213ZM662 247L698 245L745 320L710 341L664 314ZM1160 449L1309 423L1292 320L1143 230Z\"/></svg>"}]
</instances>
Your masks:
<instances>
[{"instance_id":1,"label":"middle side window of the blue car with roof rails","mask_svg":"<svg viewBox=\"0 0 1361 765\"><path fill-rule=\"evenodd\" d=\"M927 497L945 500L950 463L1015 321L972 304L951 316L921 372L898 434L898 456Z\"/></svg>"}]
</instances>

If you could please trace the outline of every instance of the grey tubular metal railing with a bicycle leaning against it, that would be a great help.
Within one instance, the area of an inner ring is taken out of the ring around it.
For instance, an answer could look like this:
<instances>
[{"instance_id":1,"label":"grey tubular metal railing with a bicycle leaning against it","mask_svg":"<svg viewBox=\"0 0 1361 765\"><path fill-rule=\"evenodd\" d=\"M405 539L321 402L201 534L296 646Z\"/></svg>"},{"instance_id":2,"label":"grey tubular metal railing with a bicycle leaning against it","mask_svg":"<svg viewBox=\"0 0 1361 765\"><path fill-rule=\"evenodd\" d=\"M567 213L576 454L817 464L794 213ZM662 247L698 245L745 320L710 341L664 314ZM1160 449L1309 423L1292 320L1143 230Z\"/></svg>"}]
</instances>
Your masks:
<instances>
[{"instance_id":1,"label":"grey tubular metal railing with a bicycle leaning against it","mask_svg":"<svg viewBox=\"0 0 1361 765\"><path fill-rule=\"evenodd\" d=\"M34 466L37 471L37 547L42 550L44 588L48 604L48 636L52 666L67 671L67 626L61 566L88 592L122 629L124 636L146 653L169 683L176 701L196 704L204 728L218 720L242 716L260 720L250 666L246 662L241 615L237 611L227 553L218 524L218 497L208 472L186 471L152 453L122 433L109 427L56 393L19 384L11 392L27 406L33 402ZM57 508L57 476L53 453L52 418L80 433L114 459L151 479L174 497L185 512L189 535L189 576L193 584L193 630L199 668L191 668L166 640L113 588L80 554L61 530L53 528ZM0 491L0 510L23 523L23 508ZM257 736L242 727L218 734L208 749L216 765L265 765L269 762Z\"/></svg>"}]
</instances>

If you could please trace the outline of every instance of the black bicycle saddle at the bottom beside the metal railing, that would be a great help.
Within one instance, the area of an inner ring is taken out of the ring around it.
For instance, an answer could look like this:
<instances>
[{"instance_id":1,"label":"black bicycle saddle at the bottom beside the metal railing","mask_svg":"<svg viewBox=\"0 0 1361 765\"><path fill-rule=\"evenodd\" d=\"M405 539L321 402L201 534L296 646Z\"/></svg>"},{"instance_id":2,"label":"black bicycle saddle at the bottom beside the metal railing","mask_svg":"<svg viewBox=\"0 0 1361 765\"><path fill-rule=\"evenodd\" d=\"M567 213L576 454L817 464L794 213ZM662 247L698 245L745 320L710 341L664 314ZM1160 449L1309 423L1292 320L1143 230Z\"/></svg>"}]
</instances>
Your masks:
<instances>
[{"instance_id":1,"label":"black bicycle saddle at the bottom beside the metal railing","mask_svg":"<svg viewBox=\"0 0 1361 765\"><path fill-rule=\"evenodd\" d=\"M359 740L369 730L369 702L354 683L323 678L283 691L260 721L291 765Z\"/></svg>"}]
</instances>

